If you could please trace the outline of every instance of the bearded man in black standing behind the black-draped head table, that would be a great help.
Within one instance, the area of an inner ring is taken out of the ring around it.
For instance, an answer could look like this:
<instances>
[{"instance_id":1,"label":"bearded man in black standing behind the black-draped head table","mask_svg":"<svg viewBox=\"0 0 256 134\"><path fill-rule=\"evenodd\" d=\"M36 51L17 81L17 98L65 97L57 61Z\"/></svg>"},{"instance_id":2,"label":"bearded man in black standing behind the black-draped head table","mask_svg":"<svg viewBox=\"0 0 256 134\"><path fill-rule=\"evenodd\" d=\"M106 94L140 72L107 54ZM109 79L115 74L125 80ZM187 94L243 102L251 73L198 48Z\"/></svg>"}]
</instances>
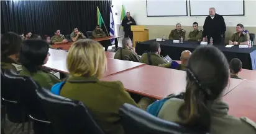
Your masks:
<instances>
[{"instance_id":1,"label":"bearded man in black standing behind the black-draped head table","mask_svg":"<svg viewBox=\"0 0 256 134\"><path fill-rule=\"evenodd\" d=\"M209 8L209 16L204 21L203 41L213 38L214 44L224 44L226 24L222 15L216 14L214 7Z\"/></svg>"}]
</instances>

